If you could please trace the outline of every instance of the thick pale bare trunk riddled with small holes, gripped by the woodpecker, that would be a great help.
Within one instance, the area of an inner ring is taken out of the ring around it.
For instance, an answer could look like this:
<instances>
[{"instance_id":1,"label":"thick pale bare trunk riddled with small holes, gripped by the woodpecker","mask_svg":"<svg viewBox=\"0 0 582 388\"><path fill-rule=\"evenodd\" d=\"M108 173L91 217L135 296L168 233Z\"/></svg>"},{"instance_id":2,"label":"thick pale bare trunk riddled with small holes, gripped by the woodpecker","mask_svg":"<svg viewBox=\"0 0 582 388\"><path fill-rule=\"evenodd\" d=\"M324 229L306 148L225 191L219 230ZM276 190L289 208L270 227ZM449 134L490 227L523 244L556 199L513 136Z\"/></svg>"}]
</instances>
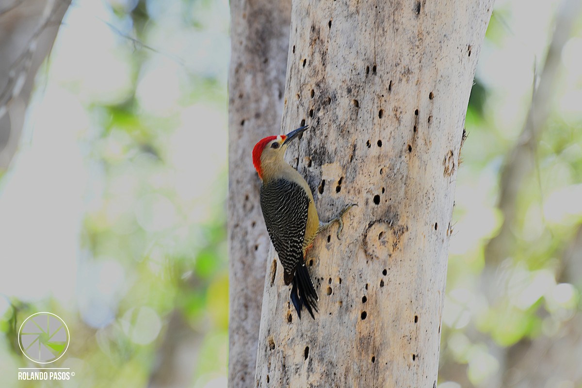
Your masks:
<instances>
[{"instance_id":1,"label":"thick pale bare trunk riddled with small holes, gripped by the woodpecker","mask_svg":"<svg viewBox=\"0 0 582 388\"><path fill-rule=\"evenodd\" d=\"M293 3L283 131L311 130L289 160L322 220L359 207L341 241L330 230L307 254L315 320L297 319L269 255L255 386L437 385L456 171L492 3Z\"/></svg>"}]
</instances>

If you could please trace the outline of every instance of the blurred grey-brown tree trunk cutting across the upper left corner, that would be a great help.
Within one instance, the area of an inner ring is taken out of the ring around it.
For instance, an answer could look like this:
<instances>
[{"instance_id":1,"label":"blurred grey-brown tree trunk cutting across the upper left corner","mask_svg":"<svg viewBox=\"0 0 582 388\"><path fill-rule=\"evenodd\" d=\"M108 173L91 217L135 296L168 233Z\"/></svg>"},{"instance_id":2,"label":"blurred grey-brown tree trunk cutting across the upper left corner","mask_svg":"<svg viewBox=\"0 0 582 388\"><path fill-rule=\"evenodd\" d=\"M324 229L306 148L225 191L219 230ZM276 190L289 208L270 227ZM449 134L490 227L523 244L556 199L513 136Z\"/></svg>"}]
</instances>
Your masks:
<instances>
[{"instance_id":1,"label":"blurred grey-brown tree trunk cutting across the upper left corner","mask_svg":"<svg viewBox=\"0 0 582 388\"><path fill-rule=\"evenodd\" d=\"M51 51L69 3L0 1L0 172L16 152L34 76Z\"/></svg>"}]
</instances>

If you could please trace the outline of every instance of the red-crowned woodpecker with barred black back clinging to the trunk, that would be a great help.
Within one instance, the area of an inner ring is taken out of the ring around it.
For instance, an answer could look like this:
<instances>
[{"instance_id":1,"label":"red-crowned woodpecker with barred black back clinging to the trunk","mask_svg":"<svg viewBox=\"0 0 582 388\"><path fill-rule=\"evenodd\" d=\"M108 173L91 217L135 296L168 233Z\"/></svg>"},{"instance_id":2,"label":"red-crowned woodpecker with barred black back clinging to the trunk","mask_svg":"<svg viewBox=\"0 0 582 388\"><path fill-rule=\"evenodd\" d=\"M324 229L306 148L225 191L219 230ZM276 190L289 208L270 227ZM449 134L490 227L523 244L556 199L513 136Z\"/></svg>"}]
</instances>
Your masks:
<instances>
[{"instance_id":1,"label":"red-crowned woodpecker with barred black back clinging to the trunk","mask_svg":"<svg viewBox=\"0 0 582 388\"><path fill-rule=\"evenodd\" d=\"M347 205L329 222L321 222L307 181L285 162L289 142L308 129L300 127L286 135L269 136L253 148L253 164L261 184L261 210L267 232L283 266L285 284L293 283L291 301L301 319L307 308L315 319L317 293L305 266L305 254L317 234L338 222L338 239L343 228L342 216L355 204Z\"/></svg>"}]
</instances>

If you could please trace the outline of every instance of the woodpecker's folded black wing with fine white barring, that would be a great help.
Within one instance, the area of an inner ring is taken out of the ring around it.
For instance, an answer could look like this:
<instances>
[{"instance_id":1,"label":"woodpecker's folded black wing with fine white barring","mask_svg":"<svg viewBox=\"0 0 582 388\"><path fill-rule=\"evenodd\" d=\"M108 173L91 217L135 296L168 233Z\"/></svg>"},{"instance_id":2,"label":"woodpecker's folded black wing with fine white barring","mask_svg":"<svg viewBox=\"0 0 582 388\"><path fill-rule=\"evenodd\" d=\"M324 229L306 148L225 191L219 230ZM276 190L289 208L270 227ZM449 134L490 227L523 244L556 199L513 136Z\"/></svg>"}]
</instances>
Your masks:
<instances>
[{"instance_id":1,"label":"woodpecker's folded black wing with fine white barring","mask_svg":"<svg viewBox=\"0 0 582 388\"><path fill-rule=\"evenodd\" d=\"M279 179L261 186L262 216L285 269L285 284L293 279L297 264L303 264L308 206L309 198L297 183Z\"/></svg>"}]
</instances>

